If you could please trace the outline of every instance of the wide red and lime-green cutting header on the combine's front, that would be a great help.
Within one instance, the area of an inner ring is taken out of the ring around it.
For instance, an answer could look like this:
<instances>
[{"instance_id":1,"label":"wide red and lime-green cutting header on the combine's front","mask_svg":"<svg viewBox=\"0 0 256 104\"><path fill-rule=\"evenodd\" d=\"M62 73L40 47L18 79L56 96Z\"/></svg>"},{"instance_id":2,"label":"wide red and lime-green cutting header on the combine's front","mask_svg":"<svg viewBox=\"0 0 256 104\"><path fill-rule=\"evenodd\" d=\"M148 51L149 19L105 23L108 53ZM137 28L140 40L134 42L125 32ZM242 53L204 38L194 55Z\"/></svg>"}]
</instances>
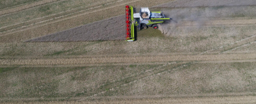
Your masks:
<instances>
[{"instance_id":1,"label":"wide red and lime-green cutting header on the combine's front","mask_svg":"<svg viewBox=\"0 0 256 104\"><path fill-rule=\"evenodd\" d=\"M125 41L134 41L134 18L133 18L133 7L126 5L125 7L126 14L126 40Z\"/></svg>"}]
</instances>

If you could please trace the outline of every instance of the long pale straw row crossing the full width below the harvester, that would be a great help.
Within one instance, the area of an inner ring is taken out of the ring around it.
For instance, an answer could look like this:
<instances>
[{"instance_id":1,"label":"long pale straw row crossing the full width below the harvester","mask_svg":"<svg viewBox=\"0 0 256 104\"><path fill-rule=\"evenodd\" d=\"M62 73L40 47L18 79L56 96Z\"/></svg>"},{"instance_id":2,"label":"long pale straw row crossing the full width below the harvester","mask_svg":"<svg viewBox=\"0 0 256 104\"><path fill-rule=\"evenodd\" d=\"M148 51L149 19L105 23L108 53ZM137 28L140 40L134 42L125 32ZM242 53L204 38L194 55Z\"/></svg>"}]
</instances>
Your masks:
<instances>
[{"instance_id":1,"label":"long pale straw row crossing the full width below the harvester","mask_svg":"<svg viewBox=\"0 0 256 104\"><path fill-rule=\"evenodd\" d=\"M75 58L13 58L0 59L1 65L58 65L58 64L95 64L95 63L145 63L168 61L221 61L253 60L256 53L239 54L196 54L196 55L148 55L148 56L103 56Z\"/></svg>"}]
</instances>

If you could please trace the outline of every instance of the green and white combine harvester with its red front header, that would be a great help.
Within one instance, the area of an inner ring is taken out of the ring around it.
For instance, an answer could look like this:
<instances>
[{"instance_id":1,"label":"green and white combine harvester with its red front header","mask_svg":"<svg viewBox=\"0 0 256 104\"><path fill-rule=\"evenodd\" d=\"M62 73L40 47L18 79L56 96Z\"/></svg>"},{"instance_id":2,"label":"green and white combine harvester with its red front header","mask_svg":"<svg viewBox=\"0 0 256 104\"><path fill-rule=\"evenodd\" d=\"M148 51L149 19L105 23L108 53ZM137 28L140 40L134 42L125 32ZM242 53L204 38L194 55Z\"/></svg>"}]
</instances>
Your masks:
<instances>
[{"instance_id":1,"label":"green and white combine harvester with its red front header","mask_svg":"<svg viewBox=\"0 0 256 104\"><path fill-rule=\"evenodd\" d=\"M137 26L138 30L153 27L158 29L158 23L163 23L165 18L162 11L149 11L148 8L141 8L139 13L133 13L133 7L126 5L126 41L135 41L134 27Z\"/></svg>"}]
</instances>

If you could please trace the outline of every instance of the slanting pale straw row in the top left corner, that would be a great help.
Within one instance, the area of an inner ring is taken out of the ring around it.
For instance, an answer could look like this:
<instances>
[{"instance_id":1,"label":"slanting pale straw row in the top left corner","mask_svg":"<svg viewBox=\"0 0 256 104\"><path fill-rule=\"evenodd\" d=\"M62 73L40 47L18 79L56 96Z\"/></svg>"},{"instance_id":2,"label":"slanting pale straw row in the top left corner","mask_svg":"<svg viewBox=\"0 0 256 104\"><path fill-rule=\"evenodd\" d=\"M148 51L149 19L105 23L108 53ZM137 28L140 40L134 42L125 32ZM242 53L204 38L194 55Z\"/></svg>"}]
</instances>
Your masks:
<instances>
[{"instance_id":1,"label":"slanting pale straw row in the top left corner","mask_svg":"<svg viewBox=\"0 0 256 104\"><path fill-rule=\"evenodd\" d=\"M7 9L7 10L2 10L2 11L0 11L0 16L5 15L5 14L9 14L9 13L12 13L12 12L17 12L17 11L29 9L29 8L32 8L32 7L35 7L35 6L39 6L39 5L43 5L43 4L47 4L47 3L51 3L51 2L56 2L56 1L59 1L59 0L43 0L43 1L35 2L35 3L31 3L31 4L18 6L18 7L15 7L15 8L10 8L10 9ZM64 0L61 0L61 1L64 1Z\"/></svg>"}]
</instances>

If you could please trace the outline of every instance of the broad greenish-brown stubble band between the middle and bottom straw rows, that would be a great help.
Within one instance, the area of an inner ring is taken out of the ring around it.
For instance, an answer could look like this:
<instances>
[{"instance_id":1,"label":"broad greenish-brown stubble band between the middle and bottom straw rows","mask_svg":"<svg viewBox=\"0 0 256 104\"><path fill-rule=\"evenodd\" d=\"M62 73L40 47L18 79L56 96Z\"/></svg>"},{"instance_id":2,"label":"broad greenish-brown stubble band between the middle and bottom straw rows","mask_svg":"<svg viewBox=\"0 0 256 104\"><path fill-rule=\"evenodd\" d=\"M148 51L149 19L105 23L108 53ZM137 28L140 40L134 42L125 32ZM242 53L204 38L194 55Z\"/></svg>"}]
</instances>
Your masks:
<instances>
[{"instance_id":1,"label":"broad greenish-brown stubble band between the middle and bottom straw rows","mask_svg":"<svg viewBox=\"0 0 256 104\"><path fill-rule=\"evenodd\" d=\"M8 67L1 101L255 95L255 62Z\"/></svg>"}]
</instances>

